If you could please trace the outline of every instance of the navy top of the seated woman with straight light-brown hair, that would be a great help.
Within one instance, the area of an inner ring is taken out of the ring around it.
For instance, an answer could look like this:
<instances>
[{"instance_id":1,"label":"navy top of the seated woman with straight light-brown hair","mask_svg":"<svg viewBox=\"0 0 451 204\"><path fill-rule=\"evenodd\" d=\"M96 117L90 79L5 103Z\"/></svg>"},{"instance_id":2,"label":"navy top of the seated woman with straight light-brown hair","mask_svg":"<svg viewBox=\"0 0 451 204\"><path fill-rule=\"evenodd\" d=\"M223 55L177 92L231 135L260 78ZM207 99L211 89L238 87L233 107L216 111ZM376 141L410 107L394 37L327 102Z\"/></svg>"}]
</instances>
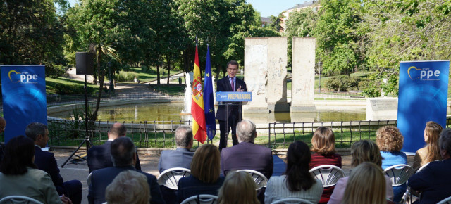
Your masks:
<instances>
[{"instance_id":1,"label":"navy top of the seated woman with straight light-brown hair","mask_svg":"<svg viewBox=\"0 0 451 204\"><path fill-rule=\"evenodd\" d=\"M218 189L224 183L224 177L219 177L213 184L206 184L196 177L190 175L189 177L181 178L178 181L177 199L178 203L182 203L186 198L196 196L199 194L209 194L218 196Z\"/></svg>"}]
</instances>

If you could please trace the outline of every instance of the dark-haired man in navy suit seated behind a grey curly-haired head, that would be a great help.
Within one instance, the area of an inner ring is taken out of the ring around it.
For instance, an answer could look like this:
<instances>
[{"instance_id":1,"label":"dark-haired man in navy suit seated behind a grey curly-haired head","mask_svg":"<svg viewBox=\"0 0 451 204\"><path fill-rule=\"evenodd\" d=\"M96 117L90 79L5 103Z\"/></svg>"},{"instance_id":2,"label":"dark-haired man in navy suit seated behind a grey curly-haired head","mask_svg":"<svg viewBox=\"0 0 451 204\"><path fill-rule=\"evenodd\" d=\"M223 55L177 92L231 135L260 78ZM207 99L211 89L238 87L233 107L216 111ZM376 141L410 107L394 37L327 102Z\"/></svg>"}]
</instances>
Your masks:
<instances>
[{"instance_id":1,"label":"dark-haired man in navy suit seated behind a grey curly-haired head","mask_svg":"<svg viewBox=\"0 0 451 204\"><path fill-rule=\"evenodd\" d=\"M150 203L164 203L156 177L135 169L136 151L130 138L121 136L111 142L111 158L114 167L96 170L91 174L91 184L89 184L87 195L89 203L105 203L106 187L119 173L126 170L134 170L147 177L147 184L150 188Z\"/></svg>"}]
</instances>

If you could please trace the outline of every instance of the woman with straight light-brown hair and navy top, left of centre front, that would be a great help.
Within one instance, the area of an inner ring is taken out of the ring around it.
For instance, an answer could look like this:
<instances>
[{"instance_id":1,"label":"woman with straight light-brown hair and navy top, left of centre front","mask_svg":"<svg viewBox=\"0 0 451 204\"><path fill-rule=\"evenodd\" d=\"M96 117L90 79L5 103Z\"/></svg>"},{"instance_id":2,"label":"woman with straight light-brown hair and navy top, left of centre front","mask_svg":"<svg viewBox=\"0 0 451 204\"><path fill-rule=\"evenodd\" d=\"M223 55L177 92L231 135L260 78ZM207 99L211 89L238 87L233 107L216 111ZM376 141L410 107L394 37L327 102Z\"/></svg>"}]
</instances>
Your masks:
<instances>
[{"instance_id":1,"label":"woman with straight light-brown hair and navy top, left of centre front","mask_svg":"<svg viewBox=\"0 0 451 204\"><path fill-rule=\"evenodd\" d=\"M178 202L198 194L218 195L218 189L224 182L221 172L221 157L213 144L204 144L197 148L191 160L191 175L178 181Z\"/></svg>"}]
</instances>

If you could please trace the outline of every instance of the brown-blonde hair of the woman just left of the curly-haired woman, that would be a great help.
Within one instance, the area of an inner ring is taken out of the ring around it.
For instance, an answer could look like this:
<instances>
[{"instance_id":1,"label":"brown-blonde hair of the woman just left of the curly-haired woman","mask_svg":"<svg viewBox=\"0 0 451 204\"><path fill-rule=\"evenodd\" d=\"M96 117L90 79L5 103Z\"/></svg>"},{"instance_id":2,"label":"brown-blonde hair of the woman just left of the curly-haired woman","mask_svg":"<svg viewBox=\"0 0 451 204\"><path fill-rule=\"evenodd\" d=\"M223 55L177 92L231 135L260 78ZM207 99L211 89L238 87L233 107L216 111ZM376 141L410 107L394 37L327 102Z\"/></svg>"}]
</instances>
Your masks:
<instances>
[{"instance_id":1,"label":"brown-blonde hair of the woman just left of the curly-haired woman","mask_svg":"<svg viewBox=\"0 0 451 204\"><path fill-rule=\"evenodd\" d=\"M378 146L371 140L361 140L351 146L351 166L357 167L362 162L372 162L378 167L382 166L381 151Z\"/></svg>"}]
</instances>

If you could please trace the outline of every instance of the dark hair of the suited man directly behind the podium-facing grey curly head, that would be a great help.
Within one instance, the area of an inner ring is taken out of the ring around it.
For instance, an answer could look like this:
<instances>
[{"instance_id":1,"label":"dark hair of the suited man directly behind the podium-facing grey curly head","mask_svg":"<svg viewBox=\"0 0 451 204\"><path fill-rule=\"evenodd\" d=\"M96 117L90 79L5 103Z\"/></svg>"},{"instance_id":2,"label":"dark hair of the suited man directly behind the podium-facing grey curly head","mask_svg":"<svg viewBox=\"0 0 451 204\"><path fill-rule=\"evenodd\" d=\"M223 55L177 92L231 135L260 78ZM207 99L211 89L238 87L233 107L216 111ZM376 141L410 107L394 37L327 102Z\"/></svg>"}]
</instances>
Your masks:
<instances>
[{"instance_id":1,"label":"dark hair of the suited man directly behind the podium-facing grey curly head","mask_svg":"<svg viewBox=\"0 0 451 204\"><path fill-rule=\"evenodd\" d=\"M132 165L133 155L136 152L135 144L127 136L121 136L111 142L111 161L114 167Z\"/></svg>"}]
</instances>

